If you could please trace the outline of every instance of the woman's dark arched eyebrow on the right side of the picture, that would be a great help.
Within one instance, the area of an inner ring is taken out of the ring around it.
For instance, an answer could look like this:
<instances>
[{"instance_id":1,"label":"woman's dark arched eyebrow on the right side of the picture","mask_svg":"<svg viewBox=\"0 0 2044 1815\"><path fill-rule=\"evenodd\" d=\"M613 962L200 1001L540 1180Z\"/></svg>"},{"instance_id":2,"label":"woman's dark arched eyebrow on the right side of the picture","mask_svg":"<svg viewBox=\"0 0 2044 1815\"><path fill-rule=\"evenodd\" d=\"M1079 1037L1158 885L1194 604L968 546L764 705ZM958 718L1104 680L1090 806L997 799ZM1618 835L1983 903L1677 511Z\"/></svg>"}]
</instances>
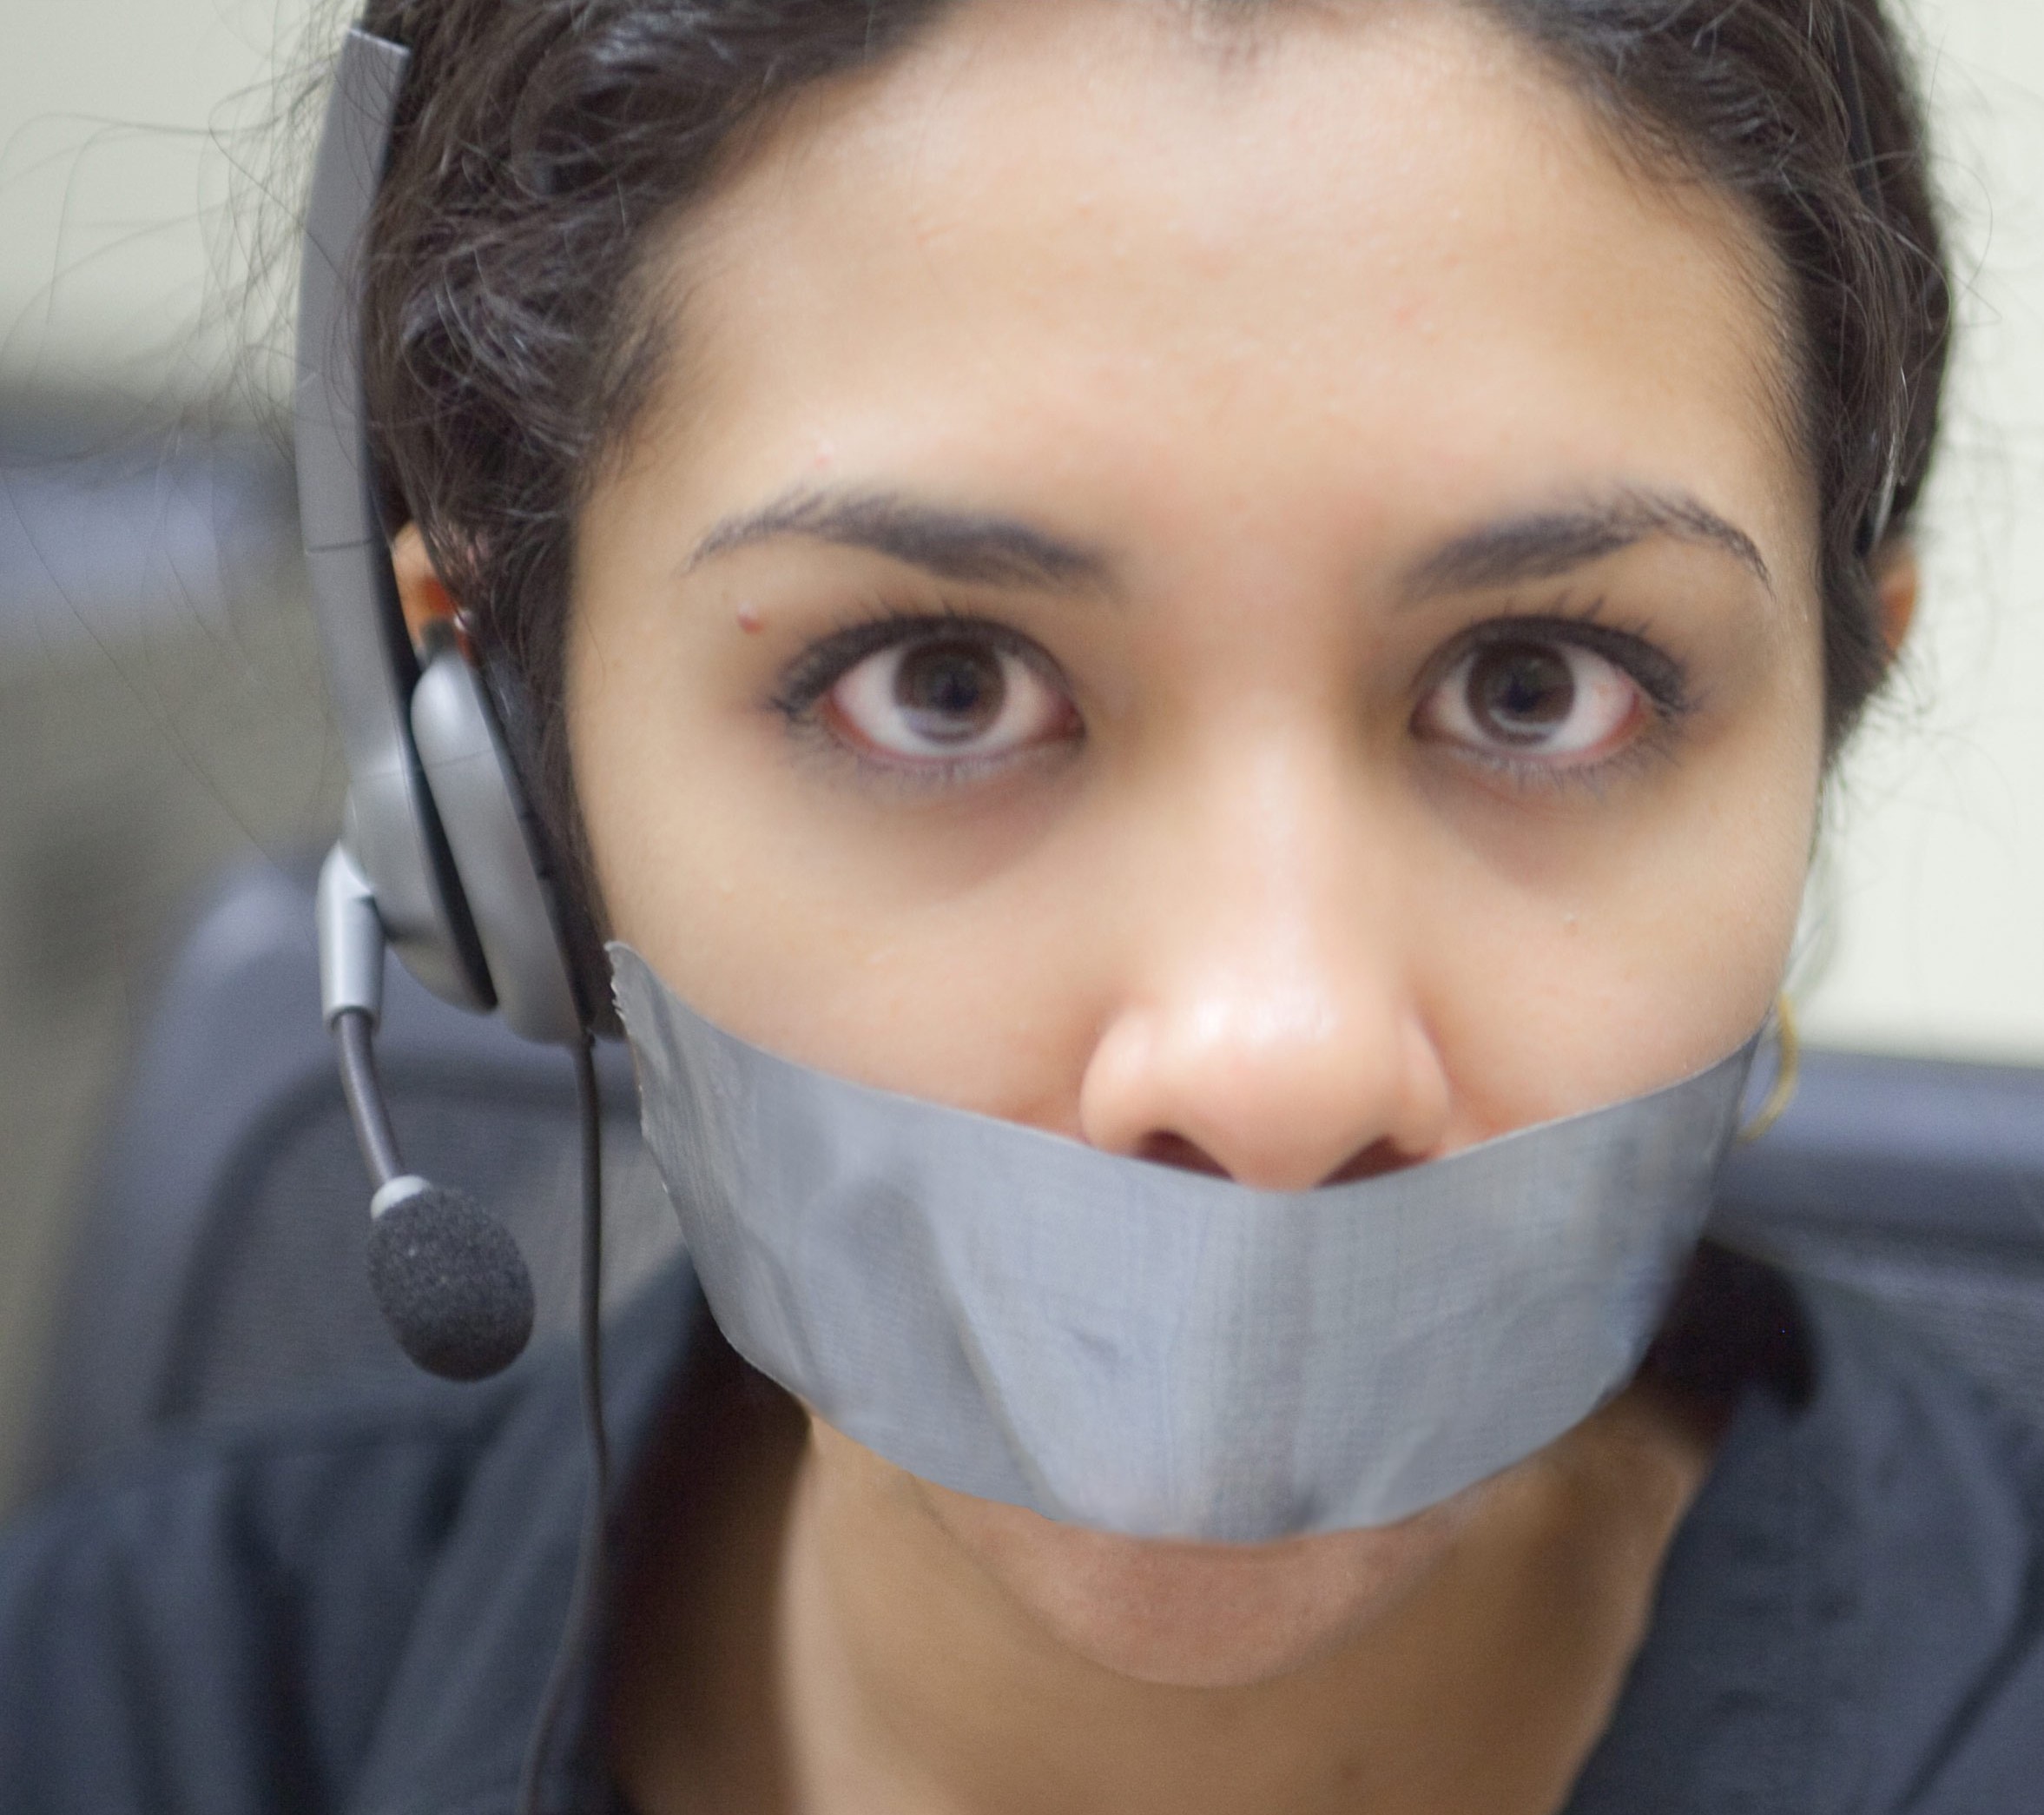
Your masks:
<instances>
[{"instance_id":1,"label":"woman's dark arched eyebrow on the right side of the picture","mask_svg":"<svg viewBox=\"0 0 2044 1815\"><path fill-rule=\"evenodd\" d=\"M1455 536L1406 573L1402 600L1412 606L1443 593L1558 579L1658 536L1723 548L1774 591L1768 563L1737 524L1694 497L1623 491L1600 503L1506 518Z\"/></svg>"}]
</instances>

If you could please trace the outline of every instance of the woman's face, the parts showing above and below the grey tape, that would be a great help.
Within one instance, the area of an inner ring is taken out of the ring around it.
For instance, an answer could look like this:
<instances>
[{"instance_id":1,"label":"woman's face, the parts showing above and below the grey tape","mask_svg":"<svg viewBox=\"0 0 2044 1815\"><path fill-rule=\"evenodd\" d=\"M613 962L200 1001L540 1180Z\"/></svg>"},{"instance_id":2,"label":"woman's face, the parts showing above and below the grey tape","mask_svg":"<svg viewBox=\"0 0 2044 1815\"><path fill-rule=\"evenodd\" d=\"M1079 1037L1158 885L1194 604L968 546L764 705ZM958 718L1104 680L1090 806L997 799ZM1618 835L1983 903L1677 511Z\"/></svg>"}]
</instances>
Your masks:
<instances>
[{"instance_id":1,"label":"woman's face, the parts showing above and below the grey tape","mask_svg":"<svg viewBox=\"0 0 2044 1815\"><path fill-rule=\"evenodd\" d=\"M1815 499L1729 205L1459 8L1202 18L963 6L672 235L570 733L615 935L713 1021L1296 1189L1760 1023ZM820 1455L1181 1680L1451 1543L1151 1547Z\"/></svg>"}]
</instances>

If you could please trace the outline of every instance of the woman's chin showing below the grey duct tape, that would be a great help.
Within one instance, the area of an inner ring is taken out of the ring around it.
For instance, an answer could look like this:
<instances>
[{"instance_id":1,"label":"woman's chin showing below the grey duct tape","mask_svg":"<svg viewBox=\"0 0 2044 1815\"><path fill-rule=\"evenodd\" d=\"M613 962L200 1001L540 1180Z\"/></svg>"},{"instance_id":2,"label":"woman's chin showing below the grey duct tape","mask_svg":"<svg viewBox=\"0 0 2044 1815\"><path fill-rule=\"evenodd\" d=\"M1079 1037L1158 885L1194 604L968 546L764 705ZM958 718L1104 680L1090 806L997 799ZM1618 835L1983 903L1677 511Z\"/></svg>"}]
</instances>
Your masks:
<instances>
[{"instance_id":1,"label":"woman's chin showing below the grey duct tape","mask_svg":"<svg viewBox=\"0 0 2044 1815\"><path fill-rule=\"evenodd\" d=\"M1271 1545L1128 1539L918 1484L932 1516L1067 1651L1139 1682L1253 1688L1386 1619L1480 1490L1398 1524Z\"/></svg>"}]
</instances>

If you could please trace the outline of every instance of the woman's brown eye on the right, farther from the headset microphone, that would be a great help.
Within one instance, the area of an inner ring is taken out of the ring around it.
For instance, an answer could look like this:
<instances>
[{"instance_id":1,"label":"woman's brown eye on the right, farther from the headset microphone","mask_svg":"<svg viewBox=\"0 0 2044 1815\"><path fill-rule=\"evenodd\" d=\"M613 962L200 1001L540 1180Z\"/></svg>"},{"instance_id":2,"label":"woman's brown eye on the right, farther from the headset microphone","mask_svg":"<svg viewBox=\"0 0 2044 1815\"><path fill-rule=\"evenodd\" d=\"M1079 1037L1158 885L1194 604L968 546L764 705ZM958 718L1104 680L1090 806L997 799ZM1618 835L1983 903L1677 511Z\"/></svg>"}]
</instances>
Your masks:
<instances>
[{"instance_id":1,"label":"woman's brown eye on the right, farther from the headset microphone","mask_svg":"<svg viewBox=\"0 0 2044 1815\"><path fill-rule=\"evenodd\" d=\"M1647 706L1639 681L1592 649L1498 636L1449 669L1414 722L1478 755L1576 767L1617 751Z\"/></svg>"}]
</instances>

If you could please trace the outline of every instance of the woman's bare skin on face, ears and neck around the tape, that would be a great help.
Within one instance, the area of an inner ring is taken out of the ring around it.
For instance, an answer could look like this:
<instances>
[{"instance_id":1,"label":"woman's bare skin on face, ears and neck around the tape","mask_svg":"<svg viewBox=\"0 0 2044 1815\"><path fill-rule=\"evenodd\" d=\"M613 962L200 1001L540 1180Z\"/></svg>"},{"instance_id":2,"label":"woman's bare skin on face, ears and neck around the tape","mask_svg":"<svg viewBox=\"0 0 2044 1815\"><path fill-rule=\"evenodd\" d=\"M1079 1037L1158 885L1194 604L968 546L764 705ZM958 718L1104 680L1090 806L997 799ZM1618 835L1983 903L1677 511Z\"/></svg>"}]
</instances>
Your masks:
<instances>
[{"instance_id":1,"label":"woman's bare skin on face, ears and neck around the tape","mask_svg":"<svg viewBox=\"0 0 2044 1815\"><path fill-rule=\"evenodd\" d=\"M654 278L675 358L580 526L570 737L613 931L711 1019L1308 1187L1766 1015L1821 782L1770 266L1492 27L983 0L797 100ZM818 532L877 495L1073 559ZM1625 546L1443 559L1568 514ZM1897 552L1897 638L1911 604ZM950 634L1020 651L1012 747L889 751L885 683L795 698L887 614L1000 626ZM1468 735L1504 618L1605 638L1588 753ZM1633 1389L1402 1526L1228 1549L738 1420L634 1584L619 1772L648 1811L1555 1809L1711 1436Z\"/></svg>"}]
</instances>

